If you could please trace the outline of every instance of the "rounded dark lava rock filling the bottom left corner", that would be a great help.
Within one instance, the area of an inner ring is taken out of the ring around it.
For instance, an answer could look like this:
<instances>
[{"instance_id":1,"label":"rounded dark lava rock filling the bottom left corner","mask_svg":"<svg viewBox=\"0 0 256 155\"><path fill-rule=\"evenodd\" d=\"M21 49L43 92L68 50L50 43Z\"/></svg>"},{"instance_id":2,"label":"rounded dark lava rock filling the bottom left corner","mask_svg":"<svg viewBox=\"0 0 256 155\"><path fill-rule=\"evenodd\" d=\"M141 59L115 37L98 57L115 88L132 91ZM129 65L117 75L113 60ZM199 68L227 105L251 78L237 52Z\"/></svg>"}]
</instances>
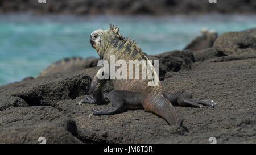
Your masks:
<instances>
[{"instance_id":1,"label":"rounded dark lava rock filling the bottom left corner","mask_svg":"<svg viewBox=\"0 0 256 155\"><path fill-rule=\"evenodd\" d=\"M0 111L0 143L82 143L70 116L50 106L11 108Z\"/></svg>"}]
</instances>

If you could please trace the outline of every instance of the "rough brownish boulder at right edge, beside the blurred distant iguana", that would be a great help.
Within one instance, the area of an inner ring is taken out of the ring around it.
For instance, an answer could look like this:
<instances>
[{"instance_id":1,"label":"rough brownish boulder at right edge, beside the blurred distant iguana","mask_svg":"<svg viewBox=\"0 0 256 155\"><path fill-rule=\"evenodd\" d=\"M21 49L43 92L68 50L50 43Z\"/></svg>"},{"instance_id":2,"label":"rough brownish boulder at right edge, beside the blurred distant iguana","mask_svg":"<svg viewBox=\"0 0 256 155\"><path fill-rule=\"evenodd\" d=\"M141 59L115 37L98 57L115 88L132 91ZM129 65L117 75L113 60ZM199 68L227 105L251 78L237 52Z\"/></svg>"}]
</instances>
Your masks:
<instances>
[{"instance_id":1,"label":"rough brownish boulder at right edge, beside the blurred distant iguana","mask_svg":"<svg viewBox=\"0 0 256 155\"><path fill-rule=\"evenodd\" d=\"M240 32L226 32L217 37L212 48L193 51L196 61L212 62L244 60L256 55L256 28ZM220 57L220 58L218 58Z\"/></svg>"}]
</instances>

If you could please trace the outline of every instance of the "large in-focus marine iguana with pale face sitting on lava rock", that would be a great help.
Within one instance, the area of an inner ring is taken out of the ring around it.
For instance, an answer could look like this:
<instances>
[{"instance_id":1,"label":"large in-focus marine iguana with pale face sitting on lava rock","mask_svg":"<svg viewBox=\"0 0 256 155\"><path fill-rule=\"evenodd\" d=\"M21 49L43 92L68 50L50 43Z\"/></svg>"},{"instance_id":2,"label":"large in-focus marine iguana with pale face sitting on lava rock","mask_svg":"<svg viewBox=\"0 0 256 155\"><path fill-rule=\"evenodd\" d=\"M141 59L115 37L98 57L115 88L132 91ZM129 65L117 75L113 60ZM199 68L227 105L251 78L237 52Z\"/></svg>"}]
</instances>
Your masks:
<instances>
[{"instance_id":1,"label":"large in-focus marine iguana with pale face sitting on lava rock","mask_svg":"<svg viewBox=\"0 0 256 155\"><path fill-rule=\"evenodd\" d=\"M100 59L110 61L110 55L115 55L115 60L147 60L141 48L134 40L120 35L119 27L110 24L108 30L95 30L90 35L90 44L96 49ZM149 62L147 65L152 66ZM115 68L115 70L117 70ZM100 71L100 70L99 70ZM98 72L97 74L102 74ZM102 87L107 79L93 78L91 89L91 97L81 100L82 103L103 104L106 98L102 93ZM110 72L111 74L111 72ZM141 76L141 73L140 73ZM180 126L183 119L179 119L175 112L174 105L195 106L202 108L205 106L214 106L217 103L213 100L192 99L192 95L187 90L180 90L175 93L163 92L162 85L155 76L157 85L149 86L148 79L111 79L114 90L108 95L108 99L112 104L111 107L105 109L92 108L93 115L109 115L122 112L125 108L138 109L144 108L148 112L164 118L170 125Z\"/></svg>"}]
</instances>

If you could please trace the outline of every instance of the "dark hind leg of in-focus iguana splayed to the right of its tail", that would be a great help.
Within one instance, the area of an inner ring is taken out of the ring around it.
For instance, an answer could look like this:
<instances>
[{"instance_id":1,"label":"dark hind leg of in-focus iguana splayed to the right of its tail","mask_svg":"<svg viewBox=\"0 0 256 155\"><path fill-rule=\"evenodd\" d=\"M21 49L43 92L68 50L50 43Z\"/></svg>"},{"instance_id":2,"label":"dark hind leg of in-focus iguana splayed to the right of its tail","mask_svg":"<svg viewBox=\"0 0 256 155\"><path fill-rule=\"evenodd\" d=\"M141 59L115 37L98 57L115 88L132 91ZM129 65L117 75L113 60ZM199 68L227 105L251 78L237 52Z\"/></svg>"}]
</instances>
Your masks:
<instances>
[{"instance_id":1,"label":"dark hind leg of in-focus iguana splayed to the right of its tail","mask_svg":"<svg viewBox=\"0 0 256 155\"><path fill-rule=\"evenodd\" d=\"M164 97L167 98L173 105L180 106L194 106L203 108L203 106L216 106L217 102L214 102L211 99L201 100L201 99L192 99L192 94L188 90L180 90L175 93L163 93Z\"/></svg>"}]
</instances>

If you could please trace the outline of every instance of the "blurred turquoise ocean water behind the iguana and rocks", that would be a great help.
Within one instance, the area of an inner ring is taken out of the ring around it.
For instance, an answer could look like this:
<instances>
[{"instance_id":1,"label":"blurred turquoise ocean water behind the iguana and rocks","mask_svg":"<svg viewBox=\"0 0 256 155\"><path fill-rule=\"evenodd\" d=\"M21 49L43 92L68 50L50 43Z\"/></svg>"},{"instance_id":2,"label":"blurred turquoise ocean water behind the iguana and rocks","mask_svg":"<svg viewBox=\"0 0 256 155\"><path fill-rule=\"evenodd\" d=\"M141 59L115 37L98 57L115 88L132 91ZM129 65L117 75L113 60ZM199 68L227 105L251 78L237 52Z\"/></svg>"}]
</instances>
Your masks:
<instances>
[{"instance_id":1,"label":"blurred turquoise ocean water behind the iguana and rocks","mask_svg":"<svg viewBox=\"0 0 256 155\"><path fill-rule=\"evenodd\" d=\"M256 27L256 15L72 16L0 15L0 85L36 76L65 57L96 56L89 35L117 23L148 54L183 49L201 28L219 34Z\"/></svg>"}]
</instances>

